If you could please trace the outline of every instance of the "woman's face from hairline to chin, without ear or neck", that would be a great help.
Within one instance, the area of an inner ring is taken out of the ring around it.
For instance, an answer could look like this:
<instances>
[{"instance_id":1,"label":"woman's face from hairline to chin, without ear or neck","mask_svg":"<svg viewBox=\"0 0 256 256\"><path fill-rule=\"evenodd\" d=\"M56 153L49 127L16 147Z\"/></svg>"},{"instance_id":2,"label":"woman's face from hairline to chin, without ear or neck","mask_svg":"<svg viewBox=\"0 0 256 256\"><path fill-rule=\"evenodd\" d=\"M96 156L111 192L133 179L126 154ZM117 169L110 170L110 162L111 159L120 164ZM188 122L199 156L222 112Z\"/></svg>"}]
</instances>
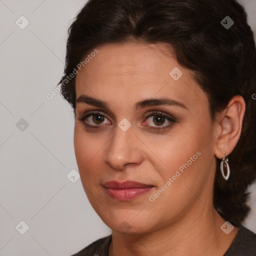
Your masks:
<instances>
[{"instance_id":1,"label":"woman's face from hairline to chin, without ear or neck","mask_svg":"<svg viewBox=\"0 0 256 256\"><path fill-rule=\"evenodd\" d=\"M215 172L216 132L206 94L163 44L97 50L75 85L74 149L92 207L120 232L197 221L212 207ZM104 186L126 180L150 187Z\"/></svg>"}]
</instances>

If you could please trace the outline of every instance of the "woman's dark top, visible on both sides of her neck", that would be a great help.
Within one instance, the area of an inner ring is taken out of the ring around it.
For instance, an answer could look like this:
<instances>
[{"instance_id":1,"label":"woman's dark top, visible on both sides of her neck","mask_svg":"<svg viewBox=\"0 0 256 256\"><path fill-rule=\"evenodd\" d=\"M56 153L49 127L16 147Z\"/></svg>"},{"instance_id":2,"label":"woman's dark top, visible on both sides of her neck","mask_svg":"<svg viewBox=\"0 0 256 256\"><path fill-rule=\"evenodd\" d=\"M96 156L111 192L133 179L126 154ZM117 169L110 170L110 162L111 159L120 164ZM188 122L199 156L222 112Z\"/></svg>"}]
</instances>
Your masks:
<instances>
[{"instance_id":1,"label":"woman's dark top, visible on both sides of her neck","mask_svg":"<svg viewBox=\"0 0 256 256\"><path fill-rule=\"evenodd\" d=\"M108 256L112 235L100 238L71 256ZM223 256L256 256L256 234L239 225L238 232Z\"/></svg>"}]
</instances>

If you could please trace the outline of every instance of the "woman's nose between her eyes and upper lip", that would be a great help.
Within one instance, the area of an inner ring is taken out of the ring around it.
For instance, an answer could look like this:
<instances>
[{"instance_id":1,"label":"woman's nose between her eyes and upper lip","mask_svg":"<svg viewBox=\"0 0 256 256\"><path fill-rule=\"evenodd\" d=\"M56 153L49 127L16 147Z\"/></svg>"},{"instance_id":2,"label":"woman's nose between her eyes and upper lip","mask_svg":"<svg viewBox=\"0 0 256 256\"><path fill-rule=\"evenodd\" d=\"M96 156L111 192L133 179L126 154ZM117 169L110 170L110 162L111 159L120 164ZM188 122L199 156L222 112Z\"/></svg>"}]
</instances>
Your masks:
<instances>
[{"instance_id":1,"label":"woman's nose between her eyes and upper lip","mask_svg":"<svg viewBox=\"0 0 256 256\"><path fill-rule=\"evenodd\" d=\"M143 161L142 142L134 134L132 126L126 131L116 126L104 160L112 168L120 170L127 165L137 165Z\"/></svg>"}]
</instances>

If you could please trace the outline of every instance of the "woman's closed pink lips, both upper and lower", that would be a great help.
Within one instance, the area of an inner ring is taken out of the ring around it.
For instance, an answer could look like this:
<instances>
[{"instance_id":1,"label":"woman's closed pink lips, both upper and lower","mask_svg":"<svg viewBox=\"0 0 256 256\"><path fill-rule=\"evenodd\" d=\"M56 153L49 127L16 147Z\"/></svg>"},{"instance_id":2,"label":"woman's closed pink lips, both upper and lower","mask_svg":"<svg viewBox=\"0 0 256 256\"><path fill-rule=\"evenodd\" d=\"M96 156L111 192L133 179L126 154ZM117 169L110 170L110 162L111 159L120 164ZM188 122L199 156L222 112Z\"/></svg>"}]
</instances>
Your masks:
<instances>
[{"instance_id":1,"label":"woman's closed pink lips, both upper and lower","mask_svg":"<svg viewBox=\"0 0 256 256\"><path fill-rule=\"evenodd\" d=\"M153 186L126 180L123 182L118 181L108 181L103 184L106 189L107 194L115 200L133 200L136 197L148 192Z\"/></svg>"}]
</instances>

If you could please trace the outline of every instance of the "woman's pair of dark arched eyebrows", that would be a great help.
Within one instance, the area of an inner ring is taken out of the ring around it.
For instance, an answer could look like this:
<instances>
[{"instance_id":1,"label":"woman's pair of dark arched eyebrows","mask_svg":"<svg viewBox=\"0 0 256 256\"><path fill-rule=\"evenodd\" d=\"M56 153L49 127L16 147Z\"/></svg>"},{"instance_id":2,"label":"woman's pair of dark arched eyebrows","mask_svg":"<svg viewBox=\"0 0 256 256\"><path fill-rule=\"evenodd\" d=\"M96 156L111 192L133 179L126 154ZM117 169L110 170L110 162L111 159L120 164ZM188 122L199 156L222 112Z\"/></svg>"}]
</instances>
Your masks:
<instances>
[{"instance_id":1,"label":"woman's pair of dark arched eyebrows","mask_svg":"<svg viewBox=\"0 0 256 256\"><path fill-rule=\"evenodd\" d=\"M89 105L93 106L99 106L102 108L107 108L109 109L108 104L105 101L102 101L100 99L92 98L87 95L80 95L76 100L75 103L87 103ZM158 106L158 105L168 105L168 106L179 106L184 109L188 109L184 104L181 102L170 99L170 98L148 98L148 99L143 99L141 101L138 101L134 104L133 109L137 110L139 108L147 107L147 106Z\"/></svg>"}]
</instances>

